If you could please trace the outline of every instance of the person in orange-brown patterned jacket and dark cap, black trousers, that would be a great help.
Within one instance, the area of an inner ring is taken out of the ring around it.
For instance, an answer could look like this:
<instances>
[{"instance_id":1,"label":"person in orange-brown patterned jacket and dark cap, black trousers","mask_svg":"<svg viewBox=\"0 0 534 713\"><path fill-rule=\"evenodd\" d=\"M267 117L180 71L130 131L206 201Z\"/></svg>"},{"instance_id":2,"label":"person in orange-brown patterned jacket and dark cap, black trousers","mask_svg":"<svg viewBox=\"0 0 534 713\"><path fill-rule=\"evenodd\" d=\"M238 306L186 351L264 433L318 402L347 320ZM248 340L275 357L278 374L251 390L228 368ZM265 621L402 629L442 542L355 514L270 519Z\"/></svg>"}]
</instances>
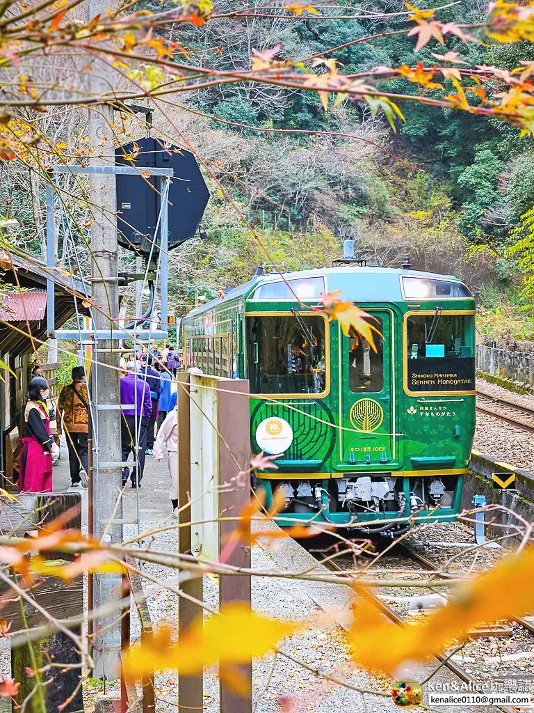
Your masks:
<instances>
[{"instance_id":1,"label":"person in orange-brown patterned jacket and dark cap, black trousers","mask_svg":"<svg viewBox=\"0 0 534 713\"><path fill-rule=\"evenodd\" d=\"M56 424L58 436L65 429L70 468L70 487L87 488L89 396L85 385L83 366L75 366L70 372L72 381L63 386L59 394Z\"/></svg>"}]
</instances>

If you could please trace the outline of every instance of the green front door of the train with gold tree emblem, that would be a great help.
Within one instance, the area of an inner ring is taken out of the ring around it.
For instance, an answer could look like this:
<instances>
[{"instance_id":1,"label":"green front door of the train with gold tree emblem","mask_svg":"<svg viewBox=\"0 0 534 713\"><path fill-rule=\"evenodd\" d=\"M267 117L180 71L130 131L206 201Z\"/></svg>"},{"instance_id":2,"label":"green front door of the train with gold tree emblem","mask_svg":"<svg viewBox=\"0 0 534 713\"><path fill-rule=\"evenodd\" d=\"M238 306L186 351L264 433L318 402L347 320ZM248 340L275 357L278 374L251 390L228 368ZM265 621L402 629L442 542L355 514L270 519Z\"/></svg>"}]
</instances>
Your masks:
<instances>
[{"instance_id":1,"label":"green front door of the train with gold tree emblem","mask_svg":"<svg viewBox=\"0 0 534 713\"><path fill-rule=\"evenodd\" d=\"M340 334L340 464L345 471L387 470L399 461L394 379L394 313L370 309L383 339L377 352L360 337Z\"/></svg>"}]
</instances>

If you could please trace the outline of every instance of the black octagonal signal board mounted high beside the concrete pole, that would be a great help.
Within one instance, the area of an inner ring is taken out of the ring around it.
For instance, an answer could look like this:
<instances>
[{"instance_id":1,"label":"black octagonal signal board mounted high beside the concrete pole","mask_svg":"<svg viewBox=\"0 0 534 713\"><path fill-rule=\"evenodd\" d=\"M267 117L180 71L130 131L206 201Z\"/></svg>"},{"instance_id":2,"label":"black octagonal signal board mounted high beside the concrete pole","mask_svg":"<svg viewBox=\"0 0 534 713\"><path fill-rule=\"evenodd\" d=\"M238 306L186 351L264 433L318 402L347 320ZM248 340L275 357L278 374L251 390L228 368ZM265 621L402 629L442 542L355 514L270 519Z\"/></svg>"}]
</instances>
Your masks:
<instances>
[{"instance_id":1,"label":"black octagonal signal board mounted high beside the concrete pole","mask_svg":"<svg viewBox=\"0 0 534 713\"><path fill-rule=\"evenodd\" d=\"M155 175L144 177L143 168L174 170L167 202L169 250L194 236L209 200L209 190L191 151L156 138L141 138L119 146L115 150L115 163L139 169L138 175L117 174L119 245L137 255L149 255L154 242L155 251L159 248L156 225L161 207L160 179Z\"/></svg>"}]
</instances>

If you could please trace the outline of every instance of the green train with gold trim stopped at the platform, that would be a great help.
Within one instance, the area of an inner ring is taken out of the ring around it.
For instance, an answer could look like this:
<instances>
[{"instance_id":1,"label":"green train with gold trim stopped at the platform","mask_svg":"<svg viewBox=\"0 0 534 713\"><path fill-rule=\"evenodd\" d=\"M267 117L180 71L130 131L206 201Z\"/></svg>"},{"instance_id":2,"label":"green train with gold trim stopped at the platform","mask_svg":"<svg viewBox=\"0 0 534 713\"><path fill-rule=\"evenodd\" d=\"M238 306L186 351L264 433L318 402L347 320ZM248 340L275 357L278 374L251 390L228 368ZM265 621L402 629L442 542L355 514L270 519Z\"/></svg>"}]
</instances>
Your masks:
<instances>
[{"instance_id":1,"label":"green train with gold trim stopped at the platform","mask_svg":"<svg viewBox=\"0 0 534 713\"><path fill-rule=\"evenodd\" d=\"M285 496L278 523L398 535L408 518L454 520L475 430L468 287L360 263L283 277L258 268L183 321L187 366L250 382L251 448L278 455L257 473L268 501ZM376 352L314 311L338 290L375 318Z\"/></svg>"}]
</instances>

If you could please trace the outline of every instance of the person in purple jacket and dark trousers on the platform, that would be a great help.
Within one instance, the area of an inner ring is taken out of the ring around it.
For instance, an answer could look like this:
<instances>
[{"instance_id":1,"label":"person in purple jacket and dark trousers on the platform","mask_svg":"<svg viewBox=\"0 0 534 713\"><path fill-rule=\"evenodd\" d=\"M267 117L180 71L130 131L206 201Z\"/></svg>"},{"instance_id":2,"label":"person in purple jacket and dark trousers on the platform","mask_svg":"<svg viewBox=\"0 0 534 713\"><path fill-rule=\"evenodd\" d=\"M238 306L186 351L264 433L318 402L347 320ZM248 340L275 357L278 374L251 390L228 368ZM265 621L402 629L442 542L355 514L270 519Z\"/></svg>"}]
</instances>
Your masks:
<instances>
[{"instance_id":1,"label":"person in purple jacket and dark trousers on the platform","mask_svg":"<svg viewBox=\"0 0 534 713\"><path fill-rule=\"evenodd\" d=\"M139 463L137 473L137 463L132 468L132 488L141 487L141 479L145 471L145 448L147 447L147 427L152 413L152 400L150 399L150 386L143 379L137 361L129 361L126 364L127 374L120 379L120 404L122 406L121 441L122 441L122 462L125 463L130 456L130 451ZM130 406L130 408L125 408ZM136 418L137 416L137 418ZM136 426L139 433L139 443L137 454L135 452ZM125 486L130 474L129 468L122 468L122 485Z\"/></svg>"}]
</instances>

